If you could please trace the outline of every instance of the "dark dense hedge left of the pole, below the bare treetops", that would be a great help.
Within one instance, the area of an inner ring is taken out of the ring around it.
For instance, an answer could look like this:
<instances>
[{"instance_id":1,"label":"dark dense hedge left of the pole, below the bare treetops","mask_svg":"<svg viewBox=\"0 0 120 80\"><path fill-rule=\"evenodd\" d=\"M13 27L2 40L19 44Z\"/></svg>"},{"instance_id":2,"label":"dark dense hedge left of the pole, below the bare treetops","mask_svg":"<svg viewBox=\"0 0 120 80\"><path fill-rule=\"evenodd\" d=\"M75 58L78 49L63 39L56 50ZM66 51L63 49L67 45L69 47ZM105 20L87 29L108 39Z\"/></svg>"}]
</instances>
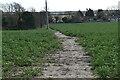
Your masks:
<instances>
[{"instance_id":1,"label":"dark dense hedge left of the pole, below the bare treetops","mask_svg":"<svg viewBox=\"0 0 120 80\"><path fill-rule=\"evenodd\" d=\"M22 29L41 28L46 24L45 12L39 12L39 13L28 12L24 14L26 16L23 16L23 12L14 12L14 13L3 12L2 14L3 14L3 29L4 30L18 30L21 28ZM24 22L22 21L23 17L25 19Z\"/></svg>"}]
</instances>

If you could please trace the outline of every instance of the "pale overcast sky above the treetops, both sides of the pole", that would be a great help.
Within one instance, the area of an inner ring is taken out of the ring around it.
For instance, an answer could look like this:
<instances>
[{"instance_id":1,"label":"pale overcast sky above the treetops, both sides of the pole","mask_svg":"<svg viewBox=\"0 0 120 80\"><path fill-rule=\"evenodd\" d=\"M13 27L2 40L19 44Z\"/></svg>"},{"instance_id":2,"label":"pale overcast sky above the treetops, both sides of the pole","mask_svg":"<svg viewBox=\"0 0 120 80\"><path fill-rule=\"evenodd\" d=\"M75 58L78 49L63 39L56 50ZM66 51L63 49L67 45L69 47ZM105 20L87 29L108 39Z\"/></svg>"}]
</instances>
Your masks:
<instances>
[{"instance_id":1,"label":"pale overcast sky above the treetops, both sides of the pole","mask_svg":"<svg viewBox=\"0 0 120 80\"><path fill-rule=\"evenodd\" d=\"M49 11L84 11L86 8L107 9L118 5L120 0L48 0ZM0 3L20 3L23 7L34 7L37 11L44 10L45 0L0 0Z\"/></svg>"}]
</instances>

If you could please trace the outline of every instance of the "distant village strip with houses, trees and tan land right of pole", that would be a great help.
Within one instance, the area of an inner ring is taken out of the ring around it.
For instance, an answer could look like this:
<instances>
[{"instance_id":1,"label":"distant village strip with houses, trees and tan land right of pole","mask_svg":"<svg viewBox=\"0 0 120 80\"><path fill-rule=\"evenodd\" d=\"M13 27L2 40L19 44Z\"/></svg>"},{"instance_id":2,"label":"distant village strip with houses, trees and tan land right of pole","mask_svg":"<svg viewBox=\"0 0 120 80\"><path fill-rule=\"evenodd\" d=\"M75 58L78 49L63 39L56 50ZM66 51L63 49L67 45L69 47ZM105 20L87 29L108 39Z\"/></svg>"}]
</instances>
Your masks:
<instances>
[{"instance_id":1,"label":"distant village strip with houses, trees and tan land right of pole","mask_svg":"<svg viewBox=\"0 0 120 80\"><path fill-rule=\"evenodd\" d=\"M119 10L102 10L93 11L60 11L50 12L50 23L79 23L79 22L117 22Z\"/></svg>"}]
</instances>

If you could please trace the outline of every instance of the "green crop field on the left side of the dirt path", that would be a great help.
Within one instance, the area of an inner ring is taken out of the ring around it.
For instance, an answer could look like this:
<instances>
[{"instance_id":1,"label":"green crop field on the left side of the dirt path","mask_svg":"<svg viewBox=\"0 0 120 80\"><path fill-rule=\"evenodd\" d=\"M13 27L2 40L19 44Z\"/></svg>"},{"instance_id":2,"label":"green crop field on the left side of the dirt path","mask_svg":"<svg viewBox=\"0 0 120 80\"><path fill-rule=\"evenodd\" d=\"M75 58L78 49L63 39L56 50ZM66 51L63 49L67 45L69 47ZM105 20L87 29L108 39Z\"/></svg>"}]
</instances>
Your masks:
<instances>
[{"instance_id":1,"label":"green crop field on the left side of the dirt path","mask_svg":"<svg viewBox=\"0 0 120 80\"><path fill-rule=\"evenodd\" d=\"M37 64L40 65L46 54L55 53L59 47L51 30L3 31L3 77L27 78L42 74L42 68Z\"/></svg>"}]
</instances>

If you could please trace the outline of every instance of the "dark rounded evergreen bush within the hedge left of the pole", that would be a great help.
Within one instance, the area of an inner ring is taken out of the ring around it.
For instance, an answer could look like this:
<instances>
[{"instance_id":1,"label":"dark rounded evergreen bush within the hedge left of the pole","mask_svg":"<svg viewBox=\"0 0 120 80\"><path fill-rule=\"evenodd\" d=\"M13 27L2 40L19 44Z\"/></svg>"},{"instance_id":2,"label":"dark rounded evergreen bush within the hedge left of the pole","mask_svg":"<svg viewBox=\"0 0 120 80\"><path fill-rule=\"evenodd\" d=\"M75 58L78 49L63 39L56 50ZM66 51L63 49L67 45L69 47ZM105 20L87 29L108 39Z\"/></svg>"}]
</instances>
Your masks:
<instances>
[{"instance_id":1,"label":"dark rounded evergreen bush within the hedge left of the pole","mask_svg":"<svg viewBox=\"0 0 120 80\"><path fill-rule=\"evenodd\" d=\"M35 21L34 16L30 12L24 12L18 19L18 29L34 29Z\"/></svg>"}]
</instances>

